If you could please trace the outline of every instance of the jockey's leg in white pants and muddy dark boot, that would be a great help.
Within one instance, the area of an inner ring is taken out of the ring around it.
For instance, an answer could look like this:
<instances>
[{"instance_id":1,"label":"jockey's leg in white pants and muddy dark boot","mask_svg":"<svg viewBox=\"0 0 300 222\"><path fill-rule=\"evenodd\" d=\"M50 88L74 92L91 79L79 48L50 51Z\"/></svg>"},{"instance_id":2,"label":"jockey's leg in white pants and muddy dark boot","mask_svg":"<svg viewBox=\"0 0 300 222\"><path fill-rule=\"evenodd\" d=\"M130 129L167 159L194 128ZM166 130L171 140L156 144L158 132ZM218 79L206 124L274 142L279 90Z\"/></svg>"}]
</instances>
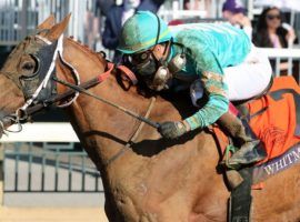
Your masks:
<instances>
[{"instance_id":1,"label":"jockey's leg in white pants and muddy dark boot","mask_svg":"<svg viewBox=\"0 0 300 222\"><path fill-rule=\"evenodd\" d=\"M230 101L247 100L261 94L271 81L272 69L268 57L252 46L246 60L224 69L224 80L229 88ZM249 164L266 157L260 141L251 132L247 121L241 121L230 111L219 119L219 124L231 134L239 150L228 160L229 165Z\"/></svg>"}]
</instances>

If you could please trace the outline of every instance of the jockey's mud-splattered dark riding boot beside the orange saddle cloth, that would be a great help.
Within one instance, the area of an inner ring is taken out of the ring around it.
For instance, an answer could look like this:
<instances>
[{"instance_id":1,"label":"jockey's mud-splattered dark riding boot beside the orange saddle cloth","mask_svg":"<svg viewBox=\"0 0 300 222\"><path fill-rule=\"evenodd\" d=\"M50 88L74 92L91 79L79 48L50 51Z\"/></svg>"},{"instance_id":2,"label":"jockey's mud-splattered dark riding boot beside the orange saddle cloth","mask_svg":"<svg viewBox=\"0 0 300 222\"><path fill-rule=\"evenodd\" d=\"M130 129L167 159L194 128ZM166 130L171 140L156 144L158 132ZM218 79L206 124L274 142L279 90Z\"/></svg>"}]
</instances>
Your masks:
<instances>
[{"instance_id":1,"label":"jockey's mud-splattered dark riding boot beside the orange saddle cloth","mask_svg":"<svg viewBox=\"0 0 300 222\"><path fill-rule=\"evenodd\" d=\"M241 121L237 115L228 111L217 122L226 130L238 147L238 151L227 160L227 167L238 169L241 165L254 163L266 158L264 148L251 132L247 121Z\"/></svg>"}]
</instances>

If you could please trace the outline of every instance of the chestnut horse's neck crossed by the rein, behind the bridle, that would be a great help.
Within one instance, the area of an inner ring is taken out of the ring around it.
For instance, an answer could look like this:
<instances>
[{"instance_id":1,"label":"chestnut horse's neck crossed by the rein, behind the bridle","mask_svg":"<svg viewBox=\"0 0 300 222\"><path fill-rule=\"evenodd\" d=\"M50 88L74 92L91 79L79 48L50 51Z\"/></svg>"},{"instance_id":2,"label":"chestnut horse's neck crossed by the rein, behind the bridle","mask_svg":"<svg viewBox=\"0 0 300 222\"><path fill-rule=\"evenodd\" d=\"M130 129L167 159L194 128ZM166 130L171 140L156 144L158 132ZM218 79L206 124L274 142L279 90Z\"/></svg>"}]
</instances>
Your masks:
<instances>
[{"instance_id":1,"label":"chestnut horse's neck crossed by the rein, behind the bridle","mask_svg":"<svg viewBox=\"0 0 300 222\"><path fill-rule=\"evenodd\" d=\"M106 61L83 46L68 39L64 42L63 58L79 72L81 82L86 82L104 71ZM60 69L66 70L66 69ZM68 81L70 73L60 73ZM67 77L68 75L68 77ZM101 98L122 105L137 113L144 114L149 100L124 91L114 75L89 91ZM97 167L110 160L128 142L139 122L87 95L80 95L70 107L71 123ZM134 153L132 152L132 155Z\"/></svg>"}]
</instances>

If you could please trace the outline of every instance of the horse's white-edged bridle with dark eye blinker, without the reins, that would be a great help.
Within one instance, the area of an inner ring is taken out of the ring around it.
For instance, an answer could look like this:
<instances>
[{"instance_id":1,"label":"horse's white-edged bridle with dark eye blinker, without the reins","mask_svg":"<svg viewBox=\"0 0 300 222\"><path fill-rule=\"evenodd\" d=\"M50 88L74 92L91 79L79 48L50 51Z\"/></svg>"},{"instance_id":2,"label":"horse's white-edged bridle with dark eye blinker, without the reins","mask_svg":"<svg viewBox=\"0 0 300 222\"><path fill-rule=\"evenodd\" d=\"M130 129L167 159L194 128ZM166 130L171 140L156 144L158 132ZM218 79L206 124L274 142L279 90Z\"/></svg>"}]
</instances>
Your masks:
<instances>
[{"instance_id":1,"label":"horse's white-edged bridle with dark eye blinker, without the reins","mask_svg":"<svg viewBox=\"0 0 300 222\"><path fill-rule=\"evenodd\" d=\"M43 32L47 30L41 30ZM56 75L56 61L60 58L61 62L72 70L73 78L77 84L80 84L79 74L76 69L62 58L63 52L63 36L61 34L59 39L54 42L49 41L48 39L40 36L40 32L34 34L33 38L41 40L44 44L37 52L34 50L28 50L28 56L32 57L36 61L37 71L33 74L21 75L16 78L10 72L2 72L8 79L10 79L22 92L26 99L26 102L22 107L18 108L16 113L11 113L0 120L0 130L6 132L7 128L11 124L18 124L19 130L21 131L21 122L26 122L31 114L34 112L47 108L58 101L58 98L61 98L57 94L56 84L53 83L53 77ZM31 37L32 38L32 37ZM32 48L36 48L34 46ZM49 57L49 52L52 52ZM46 62L43 60L47 60ZM32 91L32 85L38 84L38 87ZM66 93L64 93L66 94ZM70 102L57 105L57 107L67 107L70 105L79 95L79 92L73 92L72 99ZM69 95L69 97L71 97ZM69 98L68 97L68 98ZM62 97L60 100L64 99Z\"/></svg>"}]
</instances>

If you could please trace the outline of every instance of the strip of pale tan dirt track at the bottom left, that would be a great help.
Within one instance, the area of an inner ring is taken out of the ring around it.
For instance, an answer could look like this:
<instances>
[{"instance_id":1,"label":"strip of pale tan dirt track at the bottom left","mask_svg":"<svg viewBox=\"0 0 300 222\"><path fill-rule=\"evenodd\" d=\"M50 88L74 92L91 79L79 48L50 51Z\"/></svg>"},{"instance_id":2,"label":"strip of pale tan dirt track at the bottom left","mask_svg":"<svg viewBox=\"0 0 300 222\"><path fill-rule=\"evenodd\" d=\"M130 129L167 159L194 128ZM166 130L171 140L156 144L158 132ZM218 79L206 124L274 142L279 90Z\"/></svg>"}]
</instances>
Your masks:
<instances>
[{"instance_id":1,"label":"strip of pale tan dirt track at the bottom left","mask_svg":"<svg viewBox=\"0 0 300 222\"><path fill-rule=\"evenodd\" d=\"M0 208L0 222L108 222L100 208Z\"/></svg>"}]
</instances>

